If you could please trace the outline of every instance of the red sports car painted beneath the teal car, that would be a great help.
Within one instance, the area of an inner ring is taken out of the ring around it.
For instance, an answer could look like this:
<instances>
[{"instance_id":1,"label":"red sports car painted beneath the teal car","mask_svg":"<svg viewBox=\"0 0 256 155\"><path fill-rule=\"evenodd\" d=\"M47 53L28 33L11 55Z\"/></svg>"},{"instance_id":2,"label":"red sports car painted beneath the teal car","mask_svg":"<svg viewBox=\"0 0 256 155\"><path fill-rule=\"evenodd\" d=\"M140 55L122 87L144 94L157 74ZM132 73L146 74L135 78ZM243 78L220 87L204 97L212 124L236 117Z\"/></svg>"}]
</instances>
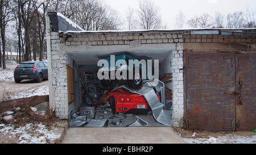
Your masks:
<instances>
[{"instance_id":1,"label":"red sports car painted beneath the teal car","mask_svg":"<svg viewBox=\"0 0 256 155\"><path fill-rule=\"evenodd\" d=\"M109 102L115 115L117 112L127 112L131 109L147 109L148 104L143 95L134 94L130 91L117 89L109 93ZM158 99L160 99L160 96Z\"/></svg>"}]
</instances>

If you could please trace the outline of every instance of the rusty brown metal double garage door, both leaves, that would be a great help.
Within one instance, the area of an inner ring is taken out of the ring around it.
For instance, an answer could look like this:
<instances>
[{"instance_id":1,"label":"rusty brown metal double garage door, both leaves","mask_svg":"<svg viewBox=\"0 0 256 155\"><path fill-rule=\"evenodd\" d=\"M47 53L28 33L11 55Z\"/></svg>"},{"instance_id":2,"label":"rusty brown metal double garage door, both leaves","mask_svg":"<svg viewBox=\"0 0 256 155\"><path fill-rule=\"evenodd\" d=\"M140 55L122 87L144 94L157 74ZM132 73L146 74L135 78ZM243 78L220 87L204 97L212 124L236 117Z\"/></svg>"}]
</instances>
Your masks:
<instances>
[{"instance_id":1,"label":"rusty brown metal double garage door, both leaves","mask_svg":"<svg viewBox=\"0 0 256 155\"><path fill-rule=\"evenodd\" d=\"M256 128L255 54L185 53L188 129Z\"/></svg>"}]
</instances>

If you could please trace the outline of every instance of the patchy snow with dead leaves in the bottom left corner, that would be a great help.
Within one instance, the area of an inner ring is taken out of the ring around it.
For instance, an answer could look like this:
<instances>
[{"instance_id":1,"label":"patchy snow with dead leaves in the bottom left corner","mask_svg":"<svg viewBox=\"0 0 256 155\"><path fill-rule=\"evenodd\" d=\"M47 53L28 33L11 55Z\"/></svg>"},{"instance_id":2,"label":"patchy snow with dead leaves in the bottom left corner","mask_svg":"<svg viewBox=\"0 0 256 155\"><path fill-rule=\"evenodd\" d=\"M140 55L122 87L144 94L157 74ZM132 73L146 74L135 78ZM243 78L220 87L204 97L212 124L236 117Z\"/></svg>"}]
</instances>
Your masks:
<instances>
[{"instance_id":1,"label":"patchy snow with dead leaves in the bottom left corner","mask_svg":"<svg viewBox=\"0 0 256 155\"><path fill-rule=\"evenodd\" d=\"M61 134L57 133L57 128L48 129L42 123L28 123L23 127L15 128L14 125L0 124L0 132L9 136L10 139L18 138L20 144L40 144L48 143L49 140L58 139ZM1 143L1 140L0 140Z\"/></svg>"}]
</instances>

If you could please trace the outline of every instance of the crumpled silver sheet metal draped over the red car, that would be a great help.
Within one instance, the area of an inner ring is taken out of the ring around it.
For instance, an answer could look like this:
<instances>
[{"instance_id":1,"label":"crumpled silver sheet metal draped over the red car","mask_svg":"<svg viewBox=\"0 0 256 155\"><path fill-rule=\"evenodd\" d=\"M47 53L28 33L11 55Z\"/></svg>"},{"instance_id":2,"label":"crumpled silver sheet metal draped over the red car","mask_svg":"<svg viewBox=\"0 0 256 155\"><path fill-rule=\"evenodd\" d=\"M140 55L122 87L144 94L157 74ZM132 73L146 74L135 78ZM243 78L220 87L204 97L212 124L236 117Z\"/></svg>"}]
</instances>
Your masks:
<instances>
[{"instance_id":1,"label":"crumpled silver sheet metal draped over the red car","mask_svg":"<svg viewBox=\"0 0 256 155\"><path fill-rule=\"evenodd\" d=\"M141 87L141 89L138 89L138 90L130 89L130 87L127 85L121 85L121 86L115 87L112 91L123 88L123 89L129 90L131 93L143 95L144 98L147 100L148 105L151 107L152 115L154 116L155 120L163 125L171 126L172 125L171 117L170 115L168 115L169 114L168 110L165 110L166 108L165 108L164 97L162 97L162 102L160 102L160 100L156 95L156 92L159 92L161 91L160 89L164 88L164 83L160 82L159 80L155 80L155 81L158 81L158 85L156 86L151 86L150 82L146 82ZM162 96L163 95L164 95L164 91L162 91Z\"/></svg>"}]
</instances>

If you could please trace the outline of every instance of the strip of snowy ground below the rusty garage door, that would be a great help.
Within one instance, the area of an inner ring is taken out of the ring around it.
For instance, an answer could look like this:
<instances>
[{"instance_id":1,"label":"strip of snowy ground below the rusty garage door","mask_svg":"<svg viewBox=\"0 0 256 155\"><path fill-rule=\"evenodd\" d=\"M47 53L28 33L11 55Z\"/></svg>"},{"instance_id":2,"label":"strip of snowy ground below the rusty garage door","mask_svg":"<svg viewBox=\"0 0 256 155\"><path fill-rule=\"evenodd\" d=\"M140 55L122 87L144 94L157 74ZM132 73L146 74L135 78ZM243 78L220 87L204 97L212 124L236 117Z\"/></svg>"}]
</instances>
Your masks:
<instances>
[{"instance_id":1,"label":"strip of snowy ground below the rusty garage door","mask_svg":"<svg viewBox=\"0 0 256 155\"><path fill-rule=\"evenodd\" d=\"M226 135L206 138L183 138L184 141L190 144L256 144L255 136L239 136L239 135Z\"/></svg>"}]
</instances>

